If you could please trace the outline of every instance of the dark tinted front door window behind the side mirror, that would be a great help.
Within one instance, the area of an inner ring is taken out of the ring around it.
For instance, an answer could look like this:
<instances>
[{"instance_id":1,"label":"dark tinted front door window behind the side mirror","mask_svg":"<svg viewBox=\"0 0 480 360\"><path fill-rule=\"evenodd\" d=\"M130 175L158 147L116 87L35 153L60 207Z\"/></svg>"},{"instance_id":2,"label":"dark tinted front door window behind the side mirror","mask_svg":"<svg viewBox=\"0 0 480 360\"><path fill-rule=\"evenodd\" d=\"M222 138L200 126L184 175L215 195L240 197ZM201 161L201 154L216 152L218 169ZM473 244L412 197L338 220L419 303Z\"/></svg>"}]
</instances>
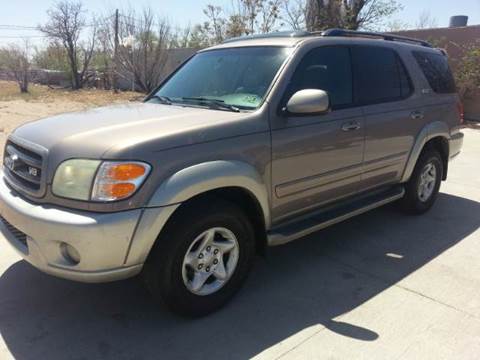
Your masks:
<instances>
[{"instance_id":1,"label":"dark tinted front door window behind the side mirror","mask_svg":"<svg viewBox=\"0 0 480 360\"><path fill-rule=\"evenodd\" d=\"M350 51L346 47L321 47L302 59L293 75L287 99L299 90L325 90L332 108L353 102Z\"/></svg>"}]
</instances>

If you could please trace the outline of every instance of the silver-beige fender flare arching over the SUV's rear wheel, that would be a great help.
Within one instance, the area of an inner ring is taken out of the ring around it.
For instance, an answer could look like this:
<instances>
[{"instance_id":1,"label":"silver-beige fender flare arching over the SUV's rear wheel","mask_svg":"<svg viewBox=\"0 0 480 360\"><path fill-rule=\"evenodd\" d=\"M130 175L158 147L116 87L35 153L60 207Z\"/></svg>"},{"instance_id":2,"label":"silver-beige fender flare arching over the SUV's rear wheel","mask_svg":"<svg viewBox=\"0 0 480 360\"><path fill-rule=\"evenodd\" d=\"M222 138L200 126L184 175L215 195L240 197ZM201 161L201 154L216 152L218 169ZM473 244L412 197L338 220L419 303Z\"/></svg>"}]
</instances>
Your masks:
<instances>
[{"instance_id":1,"label":"silver-beige fender flare arching over the SUV's rear wheel","mask_svg":"<svg viewBox=\"0 0 480 360\"><path fill-rule=\"evenodd\" d=\"M435 121L429 123L423 127L420 133L417 135L415 143L410 151L410 156L408 157L407 165L403 172L401 182L407 182L410 179L410 176L413 173L415 164L417 163L418 157L423 150L425 144L434 137L444 137L446 140L450 140L450 130L448 125L441 121Z\"/></svg>"}]
</instances>

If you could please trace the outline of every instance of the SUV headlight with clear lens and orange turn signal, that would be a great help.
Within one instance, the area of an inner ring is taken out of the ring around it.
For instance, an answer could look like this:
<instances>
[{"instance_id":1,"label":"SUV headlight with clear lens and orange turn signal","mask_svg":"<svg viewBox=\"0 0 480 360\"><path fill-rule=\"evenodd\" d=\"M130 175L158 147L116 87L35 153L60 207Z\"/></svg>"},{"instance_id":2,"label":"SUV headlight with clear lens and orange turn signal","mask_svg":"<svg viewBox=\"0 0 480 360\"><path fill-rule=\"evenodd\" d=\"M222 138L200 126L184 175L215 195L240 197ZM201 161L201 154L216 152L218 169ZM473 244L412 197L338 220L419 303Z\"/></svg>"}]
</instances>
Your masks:
<instances>
[{"instance_id":1,"label":"SUV headlight with clear lens and orange turn signal","mask_svg":"<svg viewBox=\"0 0 480 360\"><path fill-rule=\"evenodd\" d=\"M150 165L136 161L73 159L57 168L52 192L84 201L115 201L133 195L150 172Z\"/></svg>"}]
</instances>

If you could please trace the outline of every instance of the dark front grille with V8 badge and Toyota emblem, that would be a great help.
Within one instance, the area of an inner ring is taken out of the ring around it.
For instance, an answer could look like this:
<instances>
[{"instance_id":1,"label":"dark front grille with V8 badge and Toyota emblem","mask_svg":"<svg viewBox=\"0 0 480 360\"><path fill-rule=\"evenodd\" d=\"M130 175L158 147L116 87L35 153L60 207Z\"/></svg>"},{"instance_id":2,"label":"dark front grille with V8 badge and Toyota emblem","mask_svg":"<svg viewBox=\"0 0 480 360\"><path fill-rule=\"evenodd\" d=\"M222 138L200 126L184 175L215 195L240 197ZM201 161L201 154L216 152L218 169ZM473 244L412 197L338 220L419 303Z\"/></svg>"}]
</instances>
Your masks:
<instances>
[{"instance_id":1,"label":"dark front grille with V8 badge and Toyota emblem","mask_svg":"<svg viewBox=\"0 0 480 360\"><path fill-rule=\"evenodd\" d=\"M3 165L7 181L20 191L41 195L43 157L36 151L8 140Z\"/></svg>"}]
</instances>

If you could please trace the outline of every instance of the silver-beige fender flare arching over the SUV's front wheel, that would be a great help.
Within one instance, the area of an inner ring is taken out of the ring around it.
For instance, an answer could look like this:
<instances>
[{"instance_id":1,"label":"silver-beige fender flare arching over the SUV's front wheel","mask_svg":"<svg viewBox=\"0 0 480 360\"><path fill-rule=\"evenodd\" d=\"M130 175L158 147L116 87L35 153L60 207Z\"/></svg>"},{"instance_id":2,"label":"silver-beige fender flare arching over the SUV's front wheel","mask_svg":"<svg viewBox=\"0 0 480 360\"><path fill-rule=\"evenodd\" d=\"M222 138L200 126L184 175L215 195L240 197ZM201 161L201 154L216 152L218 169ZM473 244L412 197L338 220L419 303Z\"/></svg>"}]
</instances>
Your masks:
<instances>
[{"instance_id":1,"label":"silver-beige fender flare arching over the SUV's front wheel","mask_svg":"<svg viewBox=\"0 0 480 360\"><path fill-rule=\"evenodd\" d=\"M266 228L270 228L267 186L259 172L243 161L209 161L180 170L158 187L147 207L179 204L196 195L224 187L240 187L249 191L260 204Z\"/></svg>"}]
</instances>

